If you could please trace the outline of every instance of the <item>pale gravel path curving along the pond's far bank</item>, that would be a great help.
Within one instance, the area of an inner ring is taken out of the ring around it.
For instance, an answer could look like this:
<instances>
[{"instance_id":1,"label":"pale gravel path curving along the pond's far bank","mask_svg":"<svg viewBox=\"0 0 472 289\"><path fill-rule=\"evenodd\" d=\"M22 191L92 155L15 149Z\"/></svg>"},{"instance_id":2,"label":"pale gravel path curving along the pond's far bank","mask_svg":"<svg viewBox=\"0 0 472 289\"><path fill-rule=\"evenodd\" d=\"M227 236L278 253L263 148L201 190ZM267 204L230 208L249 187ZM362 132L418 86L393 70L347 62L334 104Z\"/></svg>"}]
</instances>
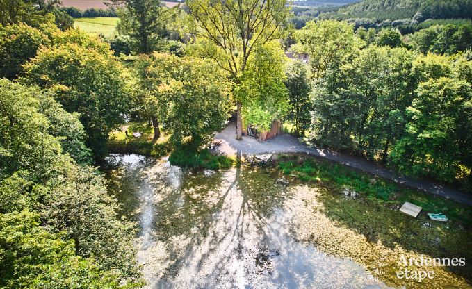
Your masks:
<instances>
[{"instance_id":1,"label":"pale gravel path curving along the pond's far bank","mask_svg":"<svg viewBox=\"0 0 472 289\"><path fill-rule=\"evenodd\" d=\"M231 122L225 129L215 135L215 139L222 140L220 151L225 154L266 154L284 152L307 153L312 156L318 156L320 158L332 160L336 163L347 165L348 167L354 167L358 170L375 174L377 176L382 176L385 179L390 179L396 183L401 183L402 185L407 185L411 188L430 192L431 194L439 195L446 199L452 199L459 203L472 206L472 195L459 192L459 190L450 188L447 185L439 185L430 181L415 180L407 176L400 176L391 170L365 160L364 158L341 154L327 149L307 147L291 135L279 135L277 138L267 140L266 142L259 142L255 138L247 136L243 136L243 140L236 140L235 128L236 124Z\"/></svg>"}]
</instances>

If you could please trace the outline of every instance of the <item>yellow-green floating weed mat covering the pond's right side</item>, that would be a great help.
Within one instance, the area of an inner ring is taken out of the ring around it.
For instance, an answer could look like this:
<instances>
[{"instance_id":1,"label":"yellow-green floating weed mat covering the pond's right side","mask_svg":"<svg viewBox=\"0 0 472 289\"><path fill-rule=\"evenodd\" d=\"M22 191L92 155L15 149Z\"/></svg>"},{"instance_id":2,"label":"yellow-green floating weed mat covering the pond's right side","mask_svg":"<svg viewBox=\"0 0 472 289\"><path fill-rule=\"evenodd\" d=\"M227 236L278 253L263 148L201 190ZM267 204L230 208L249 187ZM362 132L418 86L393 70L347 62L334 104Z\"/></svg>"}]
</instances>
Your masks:
<instances>
[{"instance_id":1,"label":"yellow-green floating weed mat covering the pond's right side","mask_svg":"<svg viewBox=\"0 0 472 289\"><path fill-rule=\"evenodd\" d=\"M292 232L300 242L348 257L363 264L375 279L389 286L407 288L466 288L472 278L470 266L408 266L408 270L433 270L434 279L421 283L398 279L401 256L405 258L472 258L466 248L472 246L471 231L456 224L431 222L422 216L412 219L388 207L359 197L350 199L336 188L322 185L297 185L295 196L285 209L293 211Z\"/></svg>"}]
</instances>

